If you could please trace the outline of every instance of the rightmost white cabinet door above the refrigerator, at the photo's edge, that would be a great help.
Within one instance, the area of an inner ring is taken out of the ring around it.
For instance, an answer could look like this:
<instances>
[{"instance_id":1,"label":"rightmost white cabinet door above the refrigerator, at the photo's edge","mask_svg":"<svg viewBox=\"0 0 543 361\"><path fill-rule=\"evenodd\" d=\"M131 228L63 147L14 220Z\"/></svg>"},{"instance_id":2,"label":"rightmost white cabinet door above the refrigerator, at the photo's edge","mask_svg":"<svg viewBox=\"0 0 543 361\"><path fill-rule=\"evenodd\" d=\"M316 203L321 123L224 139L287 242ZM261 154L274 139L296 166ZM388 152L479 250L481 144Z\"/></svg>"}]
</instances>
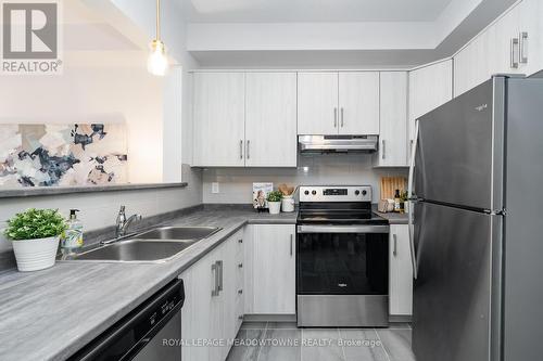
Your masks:
<instances>
[{"instance_id":1,"label":"rightmost white cabinet door above the refrigerator, at the photo's edge","mask_svg":"<svg viewBox=\"0 0 543 361\"><path fill-rule=\"evenodd\" d=\"M523 0L519 5L520 31L528 38L520 39L520 72L530 76L543 69L543 2Z\"/></svg>"}]
</instances>

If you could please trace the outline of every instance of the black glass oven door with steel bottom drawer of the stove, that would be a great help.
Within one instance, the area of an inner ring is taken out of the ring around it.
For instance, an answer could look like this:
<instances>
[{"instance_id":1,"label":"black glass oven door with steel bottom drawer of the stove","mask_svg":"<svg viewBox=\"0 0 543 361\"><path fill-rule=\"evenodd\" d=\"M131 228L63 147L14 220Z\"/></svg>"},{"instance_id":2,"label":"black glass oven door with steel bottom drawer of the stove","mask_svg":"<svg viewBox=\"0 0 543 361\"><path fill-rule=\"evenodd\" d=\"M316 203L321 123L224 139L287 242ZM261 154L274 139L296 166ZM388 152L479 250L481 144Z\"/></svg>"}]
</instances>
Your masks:
<instances>
[{"instance_id":1,"label":"black glass oven door with steel bottom drawer of the stove","mask_svg":"<svg viewBox=\"0 0 543 361\"><path fill-rule=\"evenodd\" d=\"M298 225L299 326L388 324L389 227Z\"/></svg>"}]
</instances>

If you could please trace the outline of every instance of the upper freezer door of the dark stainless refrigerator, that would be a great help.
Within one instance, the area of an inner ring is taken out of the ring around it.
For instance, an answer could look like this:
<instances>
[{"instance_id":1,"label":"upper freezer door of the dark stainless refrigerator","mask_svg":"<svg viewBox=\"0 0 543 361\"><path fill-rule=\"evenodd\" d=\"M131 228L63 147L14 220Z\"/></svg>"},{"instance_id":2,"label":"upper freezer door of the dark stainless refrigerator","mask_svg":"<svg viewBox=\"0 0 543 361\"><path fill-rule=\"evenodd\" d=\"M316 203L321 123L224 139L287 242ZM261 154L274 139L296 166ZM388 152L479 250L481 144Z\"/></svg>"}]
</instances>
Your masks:
<instances>
[{"instance_id":1,"label":"upper freezer door of the dark stainless refrigerator","mask_svg":"<svg viewBox=\"0 0 543 361\"><path fill-rule=\"evenodd\" d=\"M494 204L493 189L503 179L504 87L505 78L493 78L419 119L418 197L478 209L502 208L500 201Z\"/></svg>"}]
</instances>

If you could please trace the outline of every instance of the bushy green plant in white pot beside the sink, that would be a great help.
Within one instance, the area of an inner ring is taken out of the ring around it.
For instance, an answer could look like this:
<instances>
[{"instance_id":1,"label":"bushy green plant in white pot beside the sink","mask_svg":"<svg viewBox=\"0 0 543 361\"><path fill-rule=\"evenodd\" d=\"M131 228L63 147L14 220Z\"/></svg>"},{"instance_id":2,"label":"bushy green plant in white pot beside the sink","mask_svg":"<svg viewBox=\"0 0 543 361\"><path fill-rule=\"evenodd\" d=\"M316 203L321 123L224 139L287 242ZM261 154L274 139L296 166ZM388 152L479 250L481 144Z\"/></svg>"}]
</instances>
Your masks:
<instances>
[{"instance_id":1,"label":"bushy green plant in white pot beside the sink","mask_svg":"<svg viewBox=\"0 0 543 361\"><path fill-rule=\"evenodd\" d=\"M12 240L17 269L26 272L52 267L65 229L58 209L31 208L10 219L4 234Z\"/></svg>"}]
</instances>

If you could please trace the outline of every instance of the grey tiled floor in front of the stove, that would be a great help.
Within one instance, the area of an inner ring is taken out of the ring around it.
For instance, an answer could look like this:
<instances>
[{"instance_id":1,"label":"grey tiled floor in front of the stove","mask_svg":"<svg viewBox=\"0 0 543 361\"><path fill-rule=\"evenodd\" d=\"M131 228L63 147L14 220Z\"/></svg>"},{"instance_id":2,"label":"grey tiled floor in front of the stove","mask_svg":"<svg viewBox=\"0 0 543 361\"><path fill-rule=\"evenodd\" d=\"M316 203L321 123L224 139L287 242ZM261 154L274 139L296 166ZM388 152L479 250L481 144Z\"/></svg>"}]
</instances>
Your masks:
<instances>
[{"instance_id":1,"label":"grey tiled floor in front of the stove","mask_svg":"<svg viewBox=\"0 0 543 361\"><path fill-rule=\"evenodd\" d=\"M415 361L409 324L389 328L298 328L244 323L227 361Z\"/></svg>"}]
</instances>

